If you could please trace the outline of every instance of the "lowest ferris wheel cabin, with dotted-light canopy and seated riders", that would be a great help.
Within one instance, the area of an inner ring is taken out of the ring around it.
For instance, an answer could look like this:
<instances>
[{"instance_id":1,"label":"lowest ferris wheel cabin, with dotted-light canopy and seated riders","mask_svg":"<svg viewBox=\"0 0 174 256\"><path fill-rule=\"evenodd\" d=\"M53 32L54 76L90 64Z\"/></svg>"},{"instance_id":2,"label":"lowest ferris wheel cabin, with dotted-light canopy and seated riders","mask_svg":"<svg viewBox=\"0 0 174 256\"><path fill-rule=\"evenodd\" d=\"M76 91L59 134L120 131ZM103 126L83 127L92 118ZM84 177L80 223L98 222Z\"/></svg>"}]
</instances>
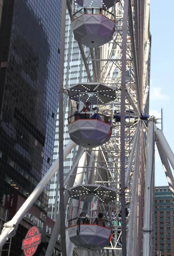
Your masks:
<instances>
[{"instance_id":1,"label":"lowest ferris wheel cabin, with dotted-light canopy and seated riders","mask_svg":"<svg viewBox=\"0 0 174 256\"><path fill-rule=\"evenodd\" d=\"M70 241L83 250L101 250L108 246L112 239L111 202L116 199L115 190L85 184L69 189L69 194Z\"/></svg>"}]
</instances>

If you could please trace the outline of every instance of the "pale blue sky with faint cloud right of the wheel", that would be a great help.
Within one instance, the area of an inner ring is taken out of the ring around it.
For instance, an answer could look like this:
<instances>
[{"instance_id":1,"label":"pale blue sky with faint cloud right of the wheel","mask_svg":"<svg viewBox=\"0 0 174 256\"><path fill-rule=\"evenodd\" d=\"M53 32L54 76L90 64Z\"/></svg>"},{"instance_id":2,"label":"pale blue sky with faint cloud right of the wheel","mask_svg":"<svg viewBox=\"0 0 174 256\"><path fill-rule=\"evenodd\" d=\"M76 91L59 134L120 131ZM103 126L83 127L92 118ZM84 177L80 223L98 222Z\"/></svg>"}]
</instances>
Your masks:
<instances>
[{"instance_id":1,"label":"pale blue sky with faint cloud right of the wheel","mask_svg":"<svg viewBox=\"0 0 174 256\"><path fill-rule=\"evenodd\" d=\"M163 108L163 133L174 152L174 0L151 0L150 32L151 84L150 114L161 116ZM161 125L158 125L161 128ZM173 175L174 171L172 169ZM159 154L155 152L155 186L168 186Z\"/></svg>"}]
</instances>

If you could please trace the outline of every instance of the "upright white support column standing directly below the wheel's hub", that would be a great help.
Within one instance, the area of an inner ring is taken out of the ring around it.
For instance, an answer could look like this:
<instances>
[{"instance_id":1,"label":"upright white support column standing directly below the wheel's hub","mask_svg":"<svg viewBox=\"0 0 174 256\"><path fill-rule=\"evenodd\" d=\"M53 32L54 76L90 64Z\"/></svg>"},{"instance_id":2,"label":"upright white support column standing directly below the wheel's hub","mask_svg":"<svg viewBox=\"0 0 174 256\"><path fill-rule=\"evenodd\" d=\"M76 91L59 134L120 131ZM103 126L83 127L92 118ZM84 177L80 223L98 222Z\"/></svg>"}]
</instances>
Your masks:
<instances>
[{"instance_id":1,"label":"upright white support column standing directly below the wheel's hub","mask_svg":"<svg viewBox=\"0 0 174 256\"><path fill-rule=\"evenodd\" d=\"M148 119L147 160L145 168L145 204L142 255L151 256L152 194L154 182L154 117Z\"/></svg>"}]
</instances>

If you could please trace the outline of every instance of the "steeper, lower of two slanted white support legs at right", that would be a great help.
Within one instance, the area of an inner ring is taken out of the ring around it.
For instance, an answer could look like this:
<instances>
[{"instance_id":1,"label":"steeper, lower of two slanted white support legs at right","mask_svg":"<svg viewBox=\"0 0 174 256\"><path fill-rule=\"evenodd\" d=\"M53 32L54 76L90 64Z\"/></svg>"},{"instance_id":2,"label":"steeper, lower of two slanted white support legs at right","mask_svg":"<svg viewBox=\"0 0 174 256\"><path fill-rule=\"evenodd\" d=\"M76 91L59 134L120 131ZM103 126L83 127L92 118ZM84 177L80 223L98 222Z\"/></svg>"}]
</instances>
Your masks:
<instances>
[{"instance_id":1,"label":"steeper, lower of two slanted white support legs at right","mask_svg":"<svg viewBox=\"0 0 174 256\"><path fill-rule=\"evenodd\" d=\"M171 194L174 198L174 177L171 172L170 165L168 163L167 155L166 155L165 151L163 150L162 145L159 143L158 139L156 140L156 144L157 144L159 156L161 158L162 166L163 166L163 169L165 171L165 175L166 175L166 178L168 181L168 186L170 187Z\"/></svg>"}]
</instances>

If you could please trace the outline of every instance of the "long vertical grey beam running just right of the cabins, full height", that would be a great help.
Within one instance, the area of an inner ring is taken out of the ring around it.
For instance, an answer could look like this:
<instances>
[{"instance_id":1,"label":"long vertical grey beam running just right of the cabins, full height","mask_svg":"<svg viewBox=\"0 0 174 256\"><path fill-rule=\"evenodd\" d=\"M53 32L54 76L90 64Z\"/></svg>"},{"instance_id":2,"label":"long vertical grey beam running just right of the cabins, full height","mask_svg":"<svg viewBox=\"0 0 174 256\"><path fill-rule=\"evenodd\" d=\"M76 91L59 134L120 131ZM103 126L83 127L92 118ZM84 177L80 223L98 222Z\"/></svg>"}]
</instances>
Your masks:
<instances>
[{"instance_id":1,"label":"long vertical grey beam running just right of the cabins, full height","mask_svg":"<svg viewBox=\"0 0 174 256\"><path fill-rule=\"evenodd\" d=\"M126 50L128 29L128 0L124 1L122 33L122 78L121 78L121 207L122 207L122 256L126 256L126 201L125 201L125 96L126 96Z\"/></svg>"}]
</instances>

